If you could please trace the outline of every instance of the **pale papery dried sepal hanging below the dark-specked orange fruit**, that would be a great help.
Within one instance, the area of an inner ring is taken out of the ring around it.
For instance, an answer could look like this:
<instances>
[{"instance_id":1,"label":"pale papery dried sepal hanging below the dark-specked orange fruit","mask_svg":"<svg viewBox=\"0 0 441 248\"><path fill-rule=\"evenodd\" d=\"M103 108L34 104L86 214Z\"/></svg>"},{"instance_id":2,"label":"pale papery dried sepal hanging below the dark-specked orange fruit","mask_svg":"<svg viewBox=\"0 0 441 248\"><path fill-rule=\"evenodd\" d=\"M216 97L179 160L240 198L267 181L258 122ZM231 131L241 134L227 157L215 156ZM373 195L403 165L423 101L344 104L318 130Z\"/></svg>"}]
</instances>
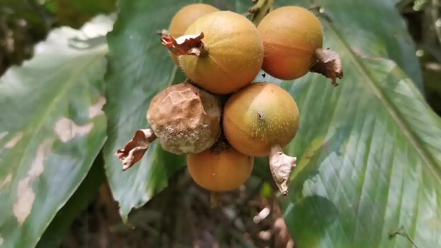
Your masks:
<instances>
[{"instance_id":1,"label":"pale papery dried sepal hanging below the dark-specked orange fruit","mask_svg":"<svg viewBox=\"0 0 441 248\"><path fill-rule=\"evenodd\" d=\"M284 196L288 194L289 174L291 174L292 169L296 167L296 161L296 157L283 154L280 145L271 147L271 152L269 153L269 169L271 169L271 174L280 193Z\"/></svg>"}]
</instances>

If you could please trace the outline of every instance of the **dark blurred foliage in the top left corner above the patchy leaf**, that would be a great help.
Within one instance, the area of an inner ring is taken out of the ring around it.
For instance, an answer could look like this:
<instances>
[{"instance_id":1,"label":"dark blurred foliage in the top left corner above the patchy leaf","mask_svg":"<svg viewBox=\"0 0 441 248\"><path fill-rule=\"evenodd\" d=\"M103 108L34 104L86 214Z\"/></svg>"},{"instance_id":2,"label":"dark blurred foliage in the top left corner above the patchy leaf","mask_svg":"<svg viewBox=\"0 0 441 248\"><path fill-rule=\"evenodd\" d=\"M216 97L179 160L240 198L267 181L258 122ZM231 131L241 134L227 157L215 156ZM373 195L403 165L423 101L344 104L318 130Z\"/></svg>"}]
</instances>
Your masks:
<instances>
[{"instance_id":1,"label":"dark blurred foliage in the top left corner above the patchy leaf","mask_svg":"<svg viewBox=\"0 0 441 248\"><path fill-rule=\"evenodd\" d=\"M79 28L96 14L116 10L116 0L0 0L0 75L32 56L52 28Z\"/></svg>"}]
</instances>

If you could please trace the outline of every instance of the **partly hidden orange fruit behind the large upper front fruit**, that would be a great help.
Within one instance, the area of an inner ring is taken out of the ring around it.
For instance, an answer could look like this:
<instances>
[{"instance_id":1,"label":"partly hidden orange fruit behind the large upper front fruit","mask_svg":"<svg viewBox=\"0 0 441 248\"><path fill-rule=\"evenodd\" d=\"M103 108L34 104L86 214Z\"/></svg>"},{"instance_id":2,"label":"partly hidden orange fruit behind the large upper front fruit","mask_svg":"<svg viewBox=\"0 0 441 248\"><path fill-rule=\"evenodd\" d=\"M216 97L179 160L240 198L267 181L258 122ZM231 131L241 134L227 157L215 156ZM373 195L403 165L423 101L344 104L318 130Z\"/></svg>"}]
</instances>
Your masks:
<instances>
[{"instance_id":1,"label":"partly hidden orange fruit behind the large upper front fruit","mask_svg":"<svg viewBox=\"0 0 441 248\"><path fill-rule=\"evenodd\" d=\"M194 3L184 6L181 10L176 12L172 18L168 31L175 38L181 37L189 25L192 25L199 17L215 11L219 11L218 8L204 3ZM172 54L172 58L174 62L177 63L176 55Z\"/></svg>"}]
</instances>

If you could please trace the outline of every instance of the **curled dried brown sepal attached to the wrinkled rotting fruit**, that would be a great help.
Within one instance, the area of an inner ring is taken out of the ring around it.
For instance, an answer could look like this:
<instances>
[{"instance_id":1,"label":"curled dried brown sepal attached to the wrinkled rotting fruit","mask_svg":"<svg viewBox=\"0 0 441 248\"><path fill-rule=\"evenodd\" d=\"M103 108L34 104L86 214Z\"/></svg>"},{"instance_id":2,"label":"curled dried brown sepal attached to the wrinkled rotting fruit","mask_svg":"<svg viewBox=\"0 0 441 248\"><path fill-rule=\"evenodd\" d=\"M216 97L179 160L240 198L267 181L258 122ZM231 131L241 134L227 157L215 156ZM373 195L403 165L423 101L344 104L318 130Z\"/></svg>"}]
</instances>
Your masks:
<instances>
[{"instance_id":1,"label":"curled dried brown sepal attached to the wrinkled rotting fruit","mask_svg":"<svg viewBox=\"0 0 441 248\"><path fill-rule=\"evenodd\" d=\"M118 156L121 163L123 163L123 171L140 161L145 151L149 149L150 143L155 139L156 135L151 129L136 131L132 141L129 141L124 149L119 149L116 152L116 156Z\"/></svg>"}]
</instances>

